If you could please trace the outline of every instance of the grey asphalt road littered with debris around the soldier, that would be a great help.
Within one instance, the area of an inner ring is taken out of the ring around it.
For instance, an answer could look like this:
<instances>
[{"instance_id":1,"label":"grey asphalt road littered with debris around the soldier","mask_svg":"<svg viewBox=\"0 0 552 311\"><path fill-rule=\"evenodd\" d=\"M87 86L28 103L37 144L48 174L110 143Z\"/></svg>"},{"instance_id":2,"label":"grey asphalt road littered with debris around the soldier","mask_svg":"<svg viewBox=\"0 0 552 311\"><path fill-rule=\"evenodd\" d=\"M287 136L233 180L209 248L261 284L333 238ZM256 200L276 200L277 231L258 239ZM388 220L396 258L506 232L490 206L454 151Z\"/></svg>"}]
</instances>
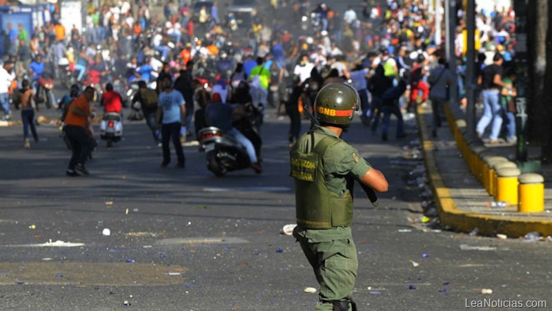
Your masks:
<instances>
[{"instance_id":1,"label":"grey asphalt road littered with debris around the soldier","mask_svg":"<svg viewBox=\"0 0 552 311\"><path fill-rule=\"evenodd\" d=\"M124 141L100 142L91 175L80 178L64 175L70 152L56 127L39 126L30 150L21 125L0 128L0 310L312 310L317 294L304 289L317 288L313 272L293 237L280 234L295 216L287 120L268 111L262 175L224 178L207 171L197 147L185 148L186 169L174 160L161 169L146 124L124 126ZM391 185L377 208L356 189L359 310L458 310L480 299L550 305L552 243L420 225L411 167L390 164L415 138L410 131L384 144L355 120L344 136ZM66 243L83 245L56 247Z\"/></svg>"}]
</instances>

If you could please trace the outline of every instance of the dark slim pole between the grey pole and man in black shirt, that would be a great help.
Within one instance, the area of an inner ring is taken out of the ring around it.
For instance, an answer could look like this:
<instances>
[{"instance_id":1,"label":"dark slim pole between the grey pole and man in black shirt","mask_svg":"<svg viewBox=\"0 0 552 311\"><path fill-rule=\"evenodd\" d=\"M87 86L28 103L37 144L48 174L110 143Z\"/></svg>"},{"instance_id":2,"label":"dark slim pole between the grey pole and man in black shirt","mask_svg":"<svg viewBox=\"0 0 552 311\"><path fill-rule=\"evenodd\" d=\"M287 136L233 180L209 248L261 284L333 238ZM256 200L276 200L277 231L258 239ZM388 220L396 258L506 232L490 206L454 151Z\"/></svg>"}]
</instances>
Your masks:
<instances>
[{"instance_id":1,"label":"dark slim pole between the grey pole and man in black shirt","mask_svg":"<svg viewBox=\"0 0 552 311\"><path fill-rule=\"evenodd\" d=\"M466 34L468 37L466 63L466 133L475 134L475 0L466 7Z\"/></svg>"}]
</instances>

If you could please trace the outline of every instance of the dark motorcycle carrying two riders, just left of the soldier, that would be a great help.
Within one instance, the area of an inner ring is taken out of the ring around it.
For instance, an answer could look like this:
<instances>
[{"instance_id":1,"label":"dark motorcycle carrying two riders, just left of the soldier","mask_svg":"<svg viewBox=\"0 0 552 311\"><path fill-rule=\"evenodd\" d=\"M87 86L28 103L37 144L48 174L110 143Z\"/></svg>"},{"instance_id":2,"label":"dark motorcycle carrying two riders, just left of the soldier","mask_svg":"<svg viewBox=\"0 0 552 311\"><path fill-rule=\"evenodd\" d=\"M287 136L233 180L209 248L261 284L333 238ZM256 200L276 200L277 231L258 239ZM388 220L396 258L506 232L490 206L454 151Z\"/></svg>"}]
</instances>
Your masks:
<instances>
[{"instance_id":1,"label":"dark motorcycle carrying two riders, just left of the soldier","mask_svg":"<svg viewBox=\"0 0 552 311\"><path fill-rule=\"evenodd\" d=\"M199 143L205 151L207 169L222 177L228 171L248 169L251 165L245 147L214 126L199 130Z\"/></svg>"}]
</instances>

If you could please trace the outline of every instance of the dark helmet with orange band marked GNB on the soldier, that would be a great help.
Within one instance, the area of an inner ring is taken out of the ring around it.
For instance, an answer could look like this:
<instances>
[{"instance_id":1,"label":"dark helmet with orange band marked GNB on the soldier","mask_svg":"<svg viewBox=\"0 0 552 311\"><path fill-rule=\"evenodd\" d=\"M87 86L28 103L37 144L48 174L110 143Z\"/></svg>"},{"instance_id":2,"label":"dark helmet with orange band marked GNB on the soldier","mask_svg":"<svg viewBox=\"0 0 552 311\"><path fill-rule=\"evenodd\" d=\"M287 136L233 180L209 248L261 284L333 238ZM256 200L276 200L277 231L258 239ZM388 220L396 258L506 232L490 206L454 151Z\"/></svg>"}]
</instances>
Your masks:
<instances>
[{"instance_id":1,"label":"dark helmet with orange band marked GNB on the soldier","mask_svg":"<svg viewBox=\"0 0 552 311\"><path fill-rule=\"evenodd\" d=\"M359 95L346 83L331 83L316 95L315 117L318 122L348 126L358 110Z\"/></svg>"}]
</instances>

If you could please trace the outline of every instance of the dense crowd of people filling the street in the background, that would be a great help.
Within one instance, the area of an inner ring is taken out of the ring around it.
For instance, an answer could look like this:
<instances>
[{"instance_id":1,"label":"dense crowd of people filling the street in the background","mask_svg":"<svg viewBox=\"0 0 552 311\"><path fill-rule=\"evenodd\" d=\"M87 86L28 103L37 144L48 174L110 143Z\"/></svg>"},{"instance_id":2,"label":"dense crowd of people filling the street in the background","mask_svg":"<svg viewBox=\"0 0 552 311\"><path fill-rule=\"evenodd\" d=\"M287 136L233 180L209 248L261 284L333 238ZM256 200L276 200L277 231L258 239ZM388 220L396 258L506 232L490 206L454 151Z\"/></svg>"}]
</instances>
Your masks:
<instances>
[{"instance_id":1,"label":"dense crowd of people filling the street in the background","mask_svg":"<svg viewBox=\"0 0 552 311\"><path fill-rule=\"evenodd\" d=\"M285 109L290 117L291 146L301 133L304 110L313 110L317 92L329 83L346 82L357 90L361 120L374 133L380 131L382 140L388 140L391 115L397 118L396 138L403 138L402 116L428 99L436 136L449 89L457 88L460 102L464 102L465 23L459 19L457 27L460 62L447 64L443 42L435 41L437 11L429 10L422 1L390 0L386 6L366 1L362 10L348 7L344 12L334 11L329 3L270 1L269 6L253 13L250 23L240 25L244 29L239 31L219 15L216 1L199 12L193 10L193 4L167 1L161 15L152 14L154 9L144 1L103 3L90 8L82 32L75 26L66 30L56 19L35 28L32 35L21 26L17 30L8 25L6 50L10 54L0 68L4 118L11 117L8 98L24 90L23 80L28 80L36 97L37 80L46 72L56 75L56 81L65 78L60 72L60 64L65 62L73 77L70 82L97 91L105 91L101 86L110 83L119 86L115 91L123 97L124 86L132 83L140 83L140 90L160 93L161 79L170 77L184 100L186 120L182 124L186 124L187 136L197 136L205 125L204 109L213 95L219 95L222 103L242 104L250 119L250 125L242 130L255 146L257 152L251 157L259 158L255 162L262 160L260 128L266 108L277 108L279 113ZM460 17L463 14L458 12ZM310 23L307 30L301 24L304 16ZM477 10L477 74L482 77L484 106L477 133L484 136L492 123L493 143L500 142L502 120L506 120L506 140L515 140L513 111L508 105L514 95L514 18L511 9ZM141 114L161 145L153 113L159 101L151 100L152 93L149 100L142 94L139 91L123 101L141 103ZM27 111L23 119L29 120L29 115ZM25 133L28 147L29 134ZM33 136L37 139L34 132Z\"/></svg>"}]
</instances>

